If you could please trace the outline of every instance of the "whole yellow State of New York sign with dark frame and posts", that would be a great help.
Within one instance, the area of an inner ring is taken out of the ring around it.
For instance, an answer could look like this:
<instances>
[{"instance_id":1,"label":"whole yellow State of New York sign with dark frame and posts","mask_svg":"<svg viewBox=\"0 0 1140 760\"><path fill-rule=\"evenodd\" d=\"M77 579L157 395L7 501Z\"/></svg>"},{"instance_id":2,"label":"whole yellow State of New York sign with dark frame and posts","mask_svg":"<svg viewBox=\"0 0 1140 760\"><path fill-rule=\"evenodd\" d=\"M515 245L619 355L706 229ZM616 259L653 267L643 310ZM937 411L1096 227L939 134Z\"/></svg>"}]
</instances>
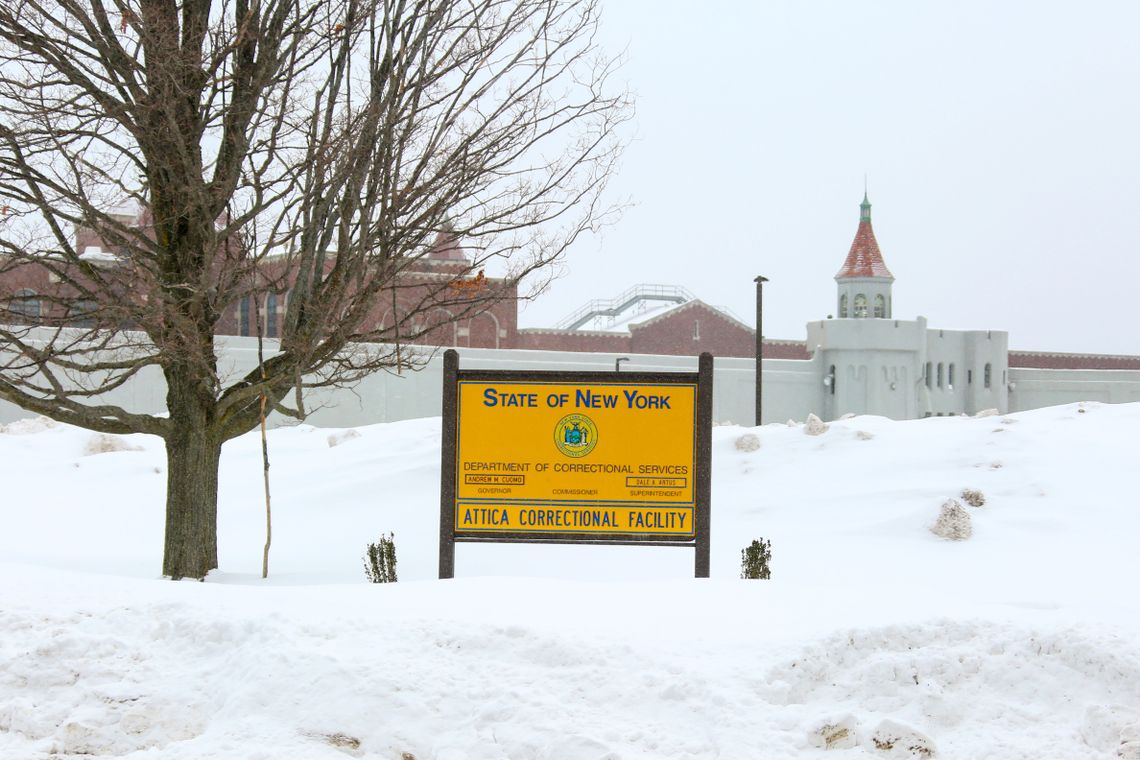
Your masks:
<instances>
[{"instance_id":1,"label":"whole yellow State of New York sign with dark frame and posts","mask_svg":"<svg viewBox=\"0 0 1140 760\"><path fill-rule=\"evenodd\" d=\"M697 548L708 575L712 358L698 373L458 369L445 353L440 578L455 541Z\"/></svg>"}]
</instances>

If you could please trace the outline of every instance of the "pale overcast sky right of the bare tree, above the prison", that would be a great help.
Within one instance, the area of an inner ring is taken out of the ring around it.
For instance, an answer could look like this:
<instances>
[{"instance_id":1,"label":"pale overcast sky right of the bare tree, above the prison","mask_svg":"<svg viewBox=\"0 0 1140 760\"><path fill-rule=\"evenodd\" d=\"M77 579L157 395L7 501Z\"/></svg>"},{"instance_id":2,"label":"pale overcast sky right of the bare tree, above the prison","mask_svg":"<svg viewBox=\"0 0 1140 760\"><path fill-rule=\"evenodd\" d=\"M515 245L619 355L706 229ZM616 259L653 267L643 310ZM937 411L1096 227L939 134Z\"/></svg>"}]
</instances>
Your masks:
<instances>
[{"instance_id":1,"label":"pale overcast sky right of the bare tree, above the prison","mask_svg":"<svg viewBox=\"0 0 1140 760\"><path fill-rule=\"evenodd\" d=\"M804 338L836 310L868 175L894 316L1018 350L1140 353L1140 2L603 0L635 137L613 197L526 308L549 326L684 285Z\"/></svg>"}]
</instances>

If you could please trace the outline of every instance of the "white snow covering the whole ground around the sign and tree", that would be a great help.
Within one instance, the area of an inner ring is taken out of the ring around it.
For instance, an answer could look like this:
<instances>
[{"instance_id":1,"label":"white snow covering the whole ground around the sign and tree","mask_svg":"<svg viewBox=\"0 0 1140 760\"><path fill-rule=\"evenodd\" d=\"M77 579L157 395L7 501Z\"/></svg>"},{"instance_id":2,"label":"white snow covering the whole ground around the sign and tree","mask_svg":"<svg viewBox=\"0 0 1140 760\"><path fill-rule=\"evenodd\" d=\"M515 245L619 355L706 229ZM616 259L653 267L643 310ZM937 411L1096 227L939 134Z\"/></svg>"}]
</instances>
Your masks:
<instances>
[{"instance_id":1,"label":"white snow covering the whole ground around the sign and tree","mask_svg":"<svg viewBox=\"0 0 1140 760\"><path fill-rule=\"evenodd\" d=\"M270 434L268 581L228 444L221 571L172 583L157 440L5 427L0 758L1140 758L1140 404L717 427L708 580L461 545L438 581L439 420L355 432ZM972 537L935 537L963 489Z\"/></svg>"}]
</instances>

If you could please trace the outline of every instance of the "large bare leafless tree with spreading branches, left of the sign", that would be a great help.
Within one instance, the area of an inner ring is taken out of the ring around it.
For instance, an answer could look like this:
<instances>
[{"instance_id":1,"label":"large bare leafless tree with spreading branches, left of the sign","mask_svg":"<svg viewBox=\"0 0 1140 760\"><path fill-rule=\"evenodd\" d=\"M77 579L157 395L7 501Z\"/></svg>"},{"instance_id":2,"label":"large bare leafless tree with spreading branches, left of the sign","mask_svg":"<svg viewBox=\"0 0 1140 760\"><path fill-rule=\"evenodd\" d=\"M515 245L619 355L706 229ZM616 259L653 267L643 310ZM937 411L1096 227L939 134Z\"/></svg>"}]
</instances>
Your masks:
<instances>
[{"instance_id":1,"label":"large bare leafless tree with spreading branches, left of the sign","mask_svg":"<svg viewBox=\"0 0 1140 760\"><path fill-rule=\"evenodd\" d=\"M596 28L595 0L5 0L0 398L161 436L163 573L204 577L262 397L303 416L606 219L630 107ZM441 232L470 265L424 265ZM280 350L223 376L219 320L285 289ZM104 402L149 367L166 416Z\"/></svg>"}]
</instances>

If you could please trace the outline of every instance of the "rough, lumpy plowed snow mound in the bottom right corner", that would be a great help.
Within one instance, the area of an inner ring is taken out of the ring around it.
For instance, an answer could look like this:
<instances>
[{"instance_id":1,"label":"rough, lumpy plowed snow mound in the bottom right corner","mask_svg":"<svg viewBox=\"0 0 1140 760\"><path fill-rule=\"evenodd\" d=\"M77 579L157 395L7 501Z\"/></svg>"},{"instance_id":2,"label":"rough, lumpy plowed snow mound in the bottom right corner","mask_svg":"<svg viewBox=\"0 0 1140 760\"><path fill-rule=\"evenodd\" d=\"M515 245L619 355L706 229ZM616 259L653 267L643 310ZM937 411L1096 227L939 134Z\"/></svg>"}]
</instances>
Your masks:
<instances>
[{"instance_id":1,"label":"rough, lumpy plowed snow mound in the bottom right corner","mask_svg":"<svg viewBox=\"0 0 1140 760\"><path fill-rule=\"evenodd\" d=\"M830 749L883 758L1107 760L1140 738L1140 656L1129 649L1082 629L930 621L837 634L763 681L773 706L848 711L809 724L821 749L831 737ZM1013 738L1025 725L1040 732L1032 754Z\"/></svg>"}]
</instances>

